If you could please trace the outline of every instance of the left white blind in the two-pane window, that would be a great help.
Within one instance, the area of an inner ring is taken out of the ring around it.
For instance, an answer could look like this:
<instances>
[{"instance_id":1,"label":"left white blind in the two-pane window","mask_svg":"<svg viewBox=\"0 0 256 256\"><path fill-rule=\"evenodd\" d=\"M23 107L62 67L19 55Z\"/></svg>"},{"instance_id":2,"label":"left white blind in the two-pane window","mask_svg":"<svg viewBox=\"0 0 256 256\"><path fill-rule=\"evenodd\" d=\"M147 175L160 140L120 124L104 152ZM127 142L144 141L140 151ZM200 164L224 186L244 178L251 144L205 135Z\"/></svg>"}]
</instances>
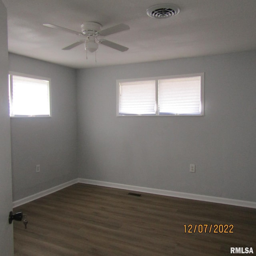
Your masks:
<instances>
[{"instance_id":1,"label":"left white blind in the two-pane window","mask_svg":"<svg viewBox=\"0 0 256 256\"><path fill-rule=\"evenodd\" d=\"M155 80L120 82L120 114L155 114Z\"/></svg>"}]
</instances>

